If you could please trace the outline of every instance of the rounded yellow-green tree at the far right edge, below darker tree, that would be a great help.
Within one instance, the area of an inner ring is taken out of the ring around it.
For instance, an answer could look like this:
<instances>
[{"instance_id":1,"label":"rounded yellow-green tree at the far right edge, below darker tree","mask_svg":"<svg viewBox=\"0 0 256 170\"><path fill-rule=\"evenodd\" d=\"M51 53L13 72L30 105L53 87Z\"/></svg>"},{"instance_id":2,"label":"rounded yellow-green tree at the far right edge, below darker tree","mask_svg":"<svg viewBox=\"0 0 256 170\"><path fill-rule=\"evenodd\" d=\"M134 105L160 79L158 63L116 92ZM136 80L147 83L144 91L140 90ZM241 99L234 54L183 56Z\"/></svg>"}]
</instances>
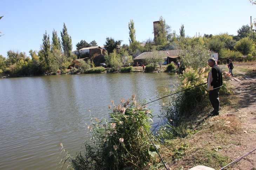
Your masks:
<instances>
[{"instance_id":1,"label":"rounded yellow-green tree at the far right edge, below darker tree","mask_svg":"<svg viewBox=\"0 0 256 170\"><path fill-rule=\"evenodd\" d=\"M249 37L244 37L236 43L235 50L240 51L243 55L254 53L255 43Z\"/></svg>"}]
</instances>

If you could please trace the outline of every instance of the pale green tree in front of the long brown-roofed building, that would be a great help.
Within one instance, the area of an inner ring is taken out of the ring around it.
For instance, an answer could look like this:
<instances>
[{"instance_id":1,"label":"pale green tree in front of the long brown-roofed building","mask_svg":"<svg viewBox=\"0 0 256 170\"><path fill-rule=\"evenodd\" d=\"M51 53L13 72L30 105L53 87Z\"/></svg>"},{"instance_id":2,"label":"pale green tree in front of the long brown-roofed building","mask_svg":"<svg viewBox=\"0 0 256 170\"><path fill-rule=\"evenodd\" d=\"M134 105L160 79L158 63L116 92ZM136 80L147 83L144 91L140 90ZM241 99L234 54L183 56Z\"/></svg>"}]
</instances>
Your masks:
<instances>
[{"instance_id":1,"label":"pale green tree in front of the long brown-roofed building","mask_svg":"<svg viewBox=\"0 0 256 170\"><path fill-rule=\"evenodd\" d=\"M147 64L153 64L154 67L156 67L157 64L164 62L165 57L166 57L166 52L163 52L163 51L148 52L143 62L146 62Z\"/></svg>"}]
</instances>

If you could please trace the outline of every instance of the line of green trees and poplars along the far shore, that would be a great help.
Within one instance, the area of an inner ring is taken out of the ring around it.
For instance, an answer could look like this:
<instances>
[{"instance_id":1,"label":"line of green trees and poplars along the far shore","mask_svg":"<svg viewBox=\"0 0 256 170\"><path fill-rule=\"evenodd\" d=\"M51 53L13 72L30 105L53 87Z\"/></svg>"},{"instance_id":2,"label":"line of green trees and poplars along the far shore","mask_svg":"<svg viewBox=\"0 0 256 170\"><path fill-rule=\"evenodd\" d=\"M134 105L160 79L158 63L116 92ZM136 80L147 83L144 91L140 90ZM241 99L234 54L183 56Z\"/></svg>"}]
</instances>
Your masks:
<instances>
[{"instance_id":1,"label":"line of green trees and poplars along the far shore","mask_svg":"<svg viewBox=\"0 0 256 170\"><path fill-rule=\"evenodd\" d=\"M249 60L256 56L256 23L242 25L237 30L237 35L229 35L221 33L218 35L204 34L203 36L189 37L185 35L184 25L181 25L180 34L176 34L175 30L171 30L170 25L160 16L159 22L154 24L154 39L147 39L143 42L136 40L136 30L134 21L131 19L128 23L129 44L123 44L122 40L115 40L107 37L104 47L107 51L105 54L105 62L112 68L128 66L133 64L133 58L139 56L143 52L155 52L162 50L175 49L191 49L206 48L216 51L219 58L233 58L247 55ZM74 64L74 60L78 56L72 54L72 38L68 35L65 23L60 32L61 38L57 31L53 30L52 40L49 34L45 32L42 38L40 50L29 51L29 56L25 52L18 50L9 50L7 58L0 55L0 75L26 76L41 75L43 73L57 73L61 71L66 73L66 69ZM87 43L81 40L76 44L76 49L83 47L97 46L95 40ZM196 50L195 50L196 51ZM156 53L153 53L156 54ZM148 56L148 62L152 62L150 58L159 56ZM161 57L159 57L161 58ZM158 61L159 62L159 61ZM88 61L89 66L94 67L92 61Z\"/></svg>"}]
</instances>

